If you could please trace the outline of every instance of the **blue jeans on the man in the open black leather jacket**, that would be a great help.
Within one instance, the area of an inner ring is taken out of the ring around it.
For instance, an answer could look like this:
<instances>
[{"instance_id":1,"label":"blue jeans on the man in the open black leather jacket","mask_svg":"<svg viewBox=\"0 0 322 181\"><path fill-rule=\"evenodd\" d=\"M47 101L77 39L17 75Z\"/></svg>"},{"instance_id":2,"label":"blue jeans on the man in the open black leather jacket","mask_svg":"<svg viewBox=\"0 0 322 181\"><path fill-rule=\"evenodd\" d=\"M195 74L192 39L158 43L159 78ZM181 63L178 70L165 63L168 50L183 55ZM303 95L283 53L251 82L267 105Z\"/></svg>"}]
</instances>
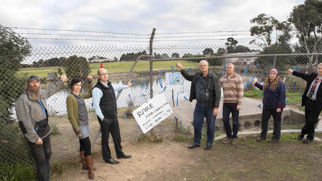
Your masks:
<instances>
[{"instance_id":1,"label":"blue jeans on the man in the open black leather jacket","mask_svg":"<svg viewBox=\"0 0 322 181\"><path fill-rule=\"evenodd\" d=\"M213 109L207 109L207 103L196 103L195 111L193 113L193 126L195 132L195 144L200 144L202 125L204 118L207 120L207 144L213 144L215 136L215 119L213 116Z\"/></svg>"}]
</instances>

